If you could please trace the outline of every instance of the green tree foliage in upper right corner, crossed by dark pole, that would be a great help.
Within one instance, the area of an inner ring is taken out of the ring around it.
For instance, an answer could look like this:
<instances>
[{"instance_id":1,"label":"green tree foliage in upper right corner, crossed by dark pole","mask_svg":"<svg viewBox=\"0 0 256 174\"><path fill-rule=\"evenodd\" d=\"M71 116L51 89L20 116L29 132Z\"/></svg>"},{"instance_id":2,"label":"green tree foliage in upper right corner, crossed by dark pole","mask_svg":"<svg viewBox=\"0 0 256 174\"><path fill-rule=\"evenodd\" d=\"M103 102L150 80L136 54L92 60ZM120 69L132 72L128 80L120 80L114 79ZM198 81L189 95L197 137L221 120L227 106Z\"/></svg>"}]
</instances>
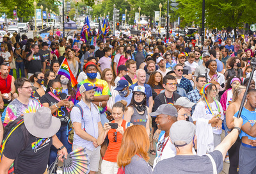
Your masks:
<instances>
[{"instance_id":1,"label":"green tree foliage in upper right corner, crossed by dark pole","mask_svg":"<svg viewBox=\"0 0 256 174\"><path fill-rule=\"evenodd\" d=\"M205 0L205 24L208 28L233 28L243 26L244 23L252 24L256 14L255 1L250 0ZM182 26L202 24L202 1L179 0L179 16Z\"/></svg>"}]
</instances>

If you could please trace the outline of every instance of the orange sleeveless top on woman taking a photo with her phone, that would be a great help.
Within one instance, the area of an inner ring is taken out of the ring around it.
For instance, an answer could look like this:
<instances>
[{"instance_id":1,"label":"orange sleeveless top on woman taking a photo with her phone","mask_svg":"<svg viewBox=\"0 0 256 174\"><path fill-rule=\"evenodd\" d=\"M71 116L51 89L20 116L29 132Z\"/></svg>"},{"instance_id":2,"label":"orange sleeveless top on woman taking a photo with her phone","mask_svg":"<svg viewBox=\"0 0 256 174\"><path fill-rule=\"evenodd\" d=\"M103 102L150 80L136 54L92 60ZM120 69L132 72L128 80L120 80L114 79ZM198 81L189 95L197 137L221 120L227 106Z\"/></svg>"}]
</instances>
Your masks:
<instances>
[{"instance_id":1,"label":"orange sleeveless top on woman taking a photo with her phone","mask_svg":"<svg viewBox=\"0 0 256 174\"><path fill-rule=\"evenodd\" d=\"M115 120L113 120L111 123L115 123ZM124 128L124 131L125 131L125 125L126 125L126 121L123 120L121 126ZM117 132L116 142L114 142L113 141L113 138L115 137L114 132L116 132L116 129L110 129L108 131L109 144L108 144L108 149L106 151L106 154L104 155L104 158L103 158L104 160L110 161L110 162L117 162L116 157L119 152L122 138L123 138L123 135L120 132Z\"/></svg>"}]
</instances>

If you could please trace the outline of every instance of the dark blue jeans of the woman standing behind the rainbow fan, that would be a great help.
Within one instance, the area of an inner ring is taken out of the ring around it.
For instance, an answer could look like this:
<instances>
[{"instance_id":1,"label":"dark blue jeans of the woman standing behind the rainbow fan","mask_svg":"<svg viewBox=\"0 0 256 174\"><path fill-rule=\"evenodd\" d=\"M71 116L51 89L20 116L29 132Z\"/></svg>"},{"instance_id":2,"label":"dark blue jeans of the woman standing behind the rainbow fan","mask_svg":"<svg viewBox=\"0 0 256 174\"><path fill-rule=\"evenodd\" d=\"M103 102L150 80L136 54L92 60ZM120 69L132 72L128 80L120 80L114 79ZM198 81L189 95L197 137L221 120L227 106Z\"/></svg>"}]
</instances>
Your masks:
<instances>
[{"instance_id":1,"label":"dark blue jeans of the woman standing behind the rainbow fan","mask_svg":"<svg viewBox=\"0 0 256 174\"><path fill-rule=\"evenodd\" d=\"M67 148L68 154L72 151L72 145L68 143L67 140L67 126L60 127L60 130L56 133L58 139ZM52 162L55 161L57 157L58 150L52 145L50 150L50 156L48 161L48 166L51 166Z\"/></svg>"}]
</instances>

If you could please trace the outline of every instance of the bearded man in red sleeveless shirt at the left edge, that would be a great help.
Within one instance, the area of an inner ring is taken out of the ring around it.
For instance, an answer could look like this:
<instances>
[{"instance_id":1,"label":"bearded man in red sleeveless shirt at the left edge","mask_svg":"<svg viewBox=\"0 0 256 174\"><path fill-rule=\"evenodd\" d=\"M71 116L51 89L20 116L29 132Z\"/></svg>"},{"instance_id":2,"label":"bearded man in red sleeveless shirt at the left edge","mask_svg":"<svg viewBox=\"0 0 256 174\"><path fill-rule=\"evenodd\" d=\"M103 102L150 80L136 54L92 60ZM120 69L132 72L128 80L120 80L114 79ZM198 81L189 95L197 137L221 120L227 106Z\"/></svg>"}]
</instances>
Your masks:
<instances>
[{"instance_id":1,"label":"bearded man in red sleeveless shirt at the left edge","mask_svg":"<svg viewBox=\"0 0 256 174\"><path fill-rule=\"evenodd\" d=\"M3 109L4 103L10 103L18 95L15 93L14 77L9 74L9 68L7 64L0 66L0 109Z\"/></svg>"}]
</instances>

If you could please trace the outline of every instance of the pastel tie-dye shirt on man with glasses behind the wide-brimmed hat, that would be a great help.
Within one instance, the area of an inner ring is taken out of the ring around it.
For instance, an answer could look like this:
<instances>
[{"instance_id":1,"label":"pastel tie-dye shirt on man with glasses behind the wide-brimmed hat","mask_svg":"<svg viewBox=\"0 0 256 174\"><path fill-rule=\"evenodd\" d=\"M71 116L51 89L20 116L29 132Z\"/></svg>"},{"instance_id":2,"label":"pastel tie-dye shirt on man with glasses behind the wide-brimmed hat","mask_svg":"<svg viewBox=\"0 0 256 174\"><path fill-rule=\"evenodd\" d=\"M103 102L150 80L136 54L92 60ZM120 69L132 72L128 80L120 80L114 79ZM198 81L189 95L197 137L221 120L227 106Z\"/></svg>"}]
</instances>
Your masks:
<instances>
[{"instance_id":1,"label":"pastel tie-dye shirt on man with glasses behind the wide-brimmed hat","mask_svg":"<svg viewBox=\"0 0 256 174\"><path fill-rule=\"evenodd\" d=\"M2 120L4 118L3 125L6 126L24 113L35 113L39 107L41 107L41 104L37 100L29 99L28 104L22 104L18 99L14 99L4 110L2 115Z\"/></svg>"}]
</instances>

